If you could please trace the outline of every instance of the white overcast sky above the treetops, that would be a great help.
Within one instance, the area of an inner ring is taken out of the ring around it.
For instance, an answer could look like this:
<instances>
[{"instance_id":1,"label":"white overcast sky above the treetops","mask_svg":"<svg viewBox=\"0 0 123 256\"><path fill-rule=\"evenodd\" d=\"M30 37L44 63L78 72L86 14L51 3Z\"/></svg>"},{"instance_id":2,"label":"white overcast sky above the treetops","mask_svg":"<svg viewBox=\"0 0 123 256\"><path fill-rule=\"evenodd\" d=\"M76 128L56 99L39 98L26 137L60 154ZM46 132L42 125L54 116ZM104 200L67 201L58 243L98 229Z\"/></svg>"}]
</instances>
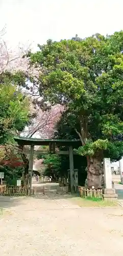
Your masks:
<instances>
[{"instance_id":1,"label":"white overcast sky above the treetops","mask_svg":"<svg viewBox=\"0 0 123 256\"><path fill-rule=\"evenodd\" d=\"M0 30L6 24L10 46L31 43L36 50L49 38L120 31L122 10L122 0L0 0Z\"/></svg>"}]
</instances>

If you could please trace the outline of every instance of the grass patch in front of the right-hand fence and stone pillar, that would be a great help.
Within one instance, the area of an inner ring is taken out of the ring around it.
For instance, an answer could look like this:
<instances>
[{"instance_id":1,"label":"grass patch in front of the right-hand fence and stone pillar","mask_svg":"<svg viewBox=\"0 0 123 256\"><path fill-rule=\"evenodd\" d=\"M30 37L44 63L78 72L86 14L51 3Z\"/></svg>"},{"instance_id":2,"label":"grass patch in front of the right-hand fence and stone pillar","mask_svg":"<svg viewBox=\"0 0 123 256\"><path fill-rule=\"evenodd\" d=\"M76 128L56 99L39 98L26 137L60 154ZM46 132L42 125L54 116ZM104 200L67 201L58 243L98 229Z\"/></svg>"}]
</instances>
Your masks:
<instances>
[{"instance_id":1,"label":"grass patch in front of the right-hand fence and stone pillar","mask_svg":"<svg viewBox=\"0 0 123 256\"><path fill-rule=\"evenodd\" d=\"M80 207L116 207L119 206L118 202L110 202L110 201L105 201L101 200L99 198L81 198L81 197L74 197L71 198L71 201L74 204L79 205ZM120 206L119 206L120 207Z\"/></svg>"}]
</instances>

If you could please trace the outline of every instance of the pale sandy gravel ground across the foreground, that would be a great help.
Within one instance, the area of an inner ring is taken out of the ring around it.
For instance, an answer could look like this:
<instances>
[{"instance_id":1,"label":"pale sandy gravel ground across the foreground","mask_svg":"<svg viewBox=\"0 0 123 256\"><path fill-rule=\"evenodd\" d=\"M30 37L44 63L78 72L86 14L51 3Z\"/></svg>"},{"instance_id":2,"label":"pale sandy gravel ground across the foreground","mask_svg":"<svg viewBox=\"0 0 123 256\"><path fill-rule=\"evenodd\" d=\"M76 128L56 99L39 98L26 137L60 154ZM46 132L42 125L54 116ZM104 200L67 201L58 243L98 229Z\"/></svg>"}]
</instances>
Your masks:
<instances>
[{"instance_id":1,"label":"pale sandy gravel ground across the foreground","mask_svg":"<svg viewBox=\"0 0 123 256\"><path fill-rule=\"evenodd\" d=\"M47 194L0 202L2 256L121 256L123 208L80 208Z\"/></svg>"}]
</instances>

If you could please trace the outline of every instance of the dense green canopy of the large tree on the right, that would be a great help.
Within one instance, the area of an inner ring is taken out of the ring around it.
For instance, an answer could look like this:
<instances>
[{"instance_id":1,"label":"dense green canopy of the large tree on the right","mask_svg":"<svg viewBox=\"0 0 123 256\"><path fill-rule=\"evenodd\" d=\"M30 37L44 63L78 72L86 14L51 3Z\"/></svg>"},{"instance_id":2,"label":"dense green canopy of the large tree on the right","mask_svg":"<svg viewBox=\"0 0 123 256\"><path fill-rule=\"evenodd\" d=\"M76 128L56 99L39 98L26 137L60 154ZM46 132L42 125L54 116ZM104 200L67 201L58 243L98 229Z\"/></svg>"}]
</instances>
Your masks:
<instances>
[{"instance_id":1,"label":"dense green canopy of the large tree on the right","mask_svg":"<svg viewBox=\"0 0 123 256\"><path fill-rule=\"evenodd\" d=\"M78 151L81 155L103 150L105 156L118 160L123 154L122 39L123 31L83 40L78 36L48 40L40 51L30 53L31 62L44 70L40 95L45 101L65 104L74 117L71 129L77 129L84 145Z\"/></svg>"}]
</instances>

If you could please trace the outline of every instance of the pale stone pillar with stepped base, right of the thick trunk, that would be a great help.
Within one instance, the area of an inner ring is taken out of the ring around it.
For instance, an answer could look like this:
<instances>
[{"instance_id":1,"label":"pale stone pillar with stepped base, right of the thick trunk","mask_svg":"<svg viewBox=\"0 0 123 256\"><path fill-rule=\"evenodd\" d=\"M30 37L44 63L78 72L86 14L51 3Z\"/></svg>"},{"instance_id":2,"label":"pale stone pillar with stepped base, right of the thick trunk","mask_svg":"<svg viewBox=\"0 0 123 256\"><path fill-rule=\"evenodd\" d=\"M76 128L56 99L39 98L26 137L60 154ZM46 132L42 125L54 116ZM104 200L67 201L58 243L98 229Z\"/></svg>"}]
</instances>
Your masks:
<instances>
[{"instance_id":1,"label":"pale stone pillar with stepped base, right of the thick trunk","mask_svg":"<svg viewBox=\"0 0 123 256\"><path fill-rule=\"evenodd\" d=\"M115 189L112 188L112 173L111 173L111 162L110 158L104 158L104 180L105 188L103 198L105 200L114 201L117 199Z\"/></svg>"}]
</instances>

